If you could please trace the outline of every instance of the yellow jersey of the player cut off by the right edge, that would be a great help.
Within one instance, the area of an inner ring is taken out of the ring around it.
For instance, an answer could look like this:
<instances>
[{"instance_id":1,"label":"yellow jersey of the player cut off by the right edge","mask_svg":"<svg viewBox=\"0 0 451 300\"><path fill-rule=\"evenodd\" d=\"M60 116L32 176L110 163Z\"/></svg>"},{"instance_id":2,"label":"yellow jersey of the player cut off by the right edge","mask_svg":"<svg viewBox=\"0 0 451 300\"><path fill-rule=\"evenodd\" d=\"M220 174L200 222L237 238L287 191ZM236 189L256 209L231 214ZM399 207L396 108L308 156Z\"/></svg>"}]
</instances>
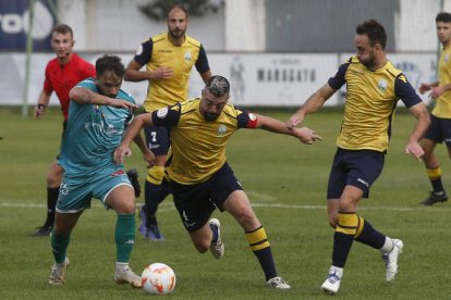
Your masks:
<instances>
[{"instance_id":1,"label":"yellow jersey of the player cut off by the right edge","mask_svg":"<svg viewBox=\"0 0 451 300\"><path fill-rule=\"evenodd\" d=\"M439 60L439 87L451 84L451 47L443 49ZM451 118L451 91L443 92L436 100L432 114L437 117Z\"/></svg>"}]
</instances>

